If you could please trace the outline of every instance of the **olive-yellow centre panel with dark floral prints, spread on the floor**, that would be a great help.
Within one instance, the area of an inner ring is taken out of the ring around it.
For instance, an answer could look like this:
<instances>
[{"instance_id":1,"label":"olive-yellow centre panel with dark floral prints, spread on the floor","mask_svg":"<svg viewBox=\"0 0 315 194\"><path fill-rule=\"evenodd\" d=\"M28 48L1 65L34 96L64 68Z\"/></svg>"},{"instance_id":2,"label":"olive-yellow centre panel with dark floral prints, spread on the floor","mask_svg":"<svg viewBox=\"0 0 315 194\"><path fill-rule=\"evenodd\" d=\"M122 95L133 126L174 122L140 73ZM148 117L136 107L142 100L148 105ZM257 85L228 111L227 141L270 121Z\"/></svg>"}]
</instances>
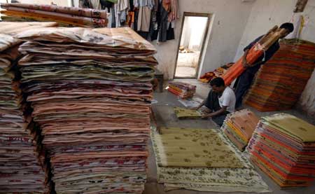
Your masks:
<instances>
[{"instance_id":1,"label":"olive-yellow centre panel with dark floral prints, spread on the floor","mask_svg":"<svg viewBox=\"0 0 315 194\"><path fill-rule=\"evenodd\" d=\"M162 167L228 167L244 165L235 152L211 129L165 128L155 136Z\"/></svg>"}]
</instances>

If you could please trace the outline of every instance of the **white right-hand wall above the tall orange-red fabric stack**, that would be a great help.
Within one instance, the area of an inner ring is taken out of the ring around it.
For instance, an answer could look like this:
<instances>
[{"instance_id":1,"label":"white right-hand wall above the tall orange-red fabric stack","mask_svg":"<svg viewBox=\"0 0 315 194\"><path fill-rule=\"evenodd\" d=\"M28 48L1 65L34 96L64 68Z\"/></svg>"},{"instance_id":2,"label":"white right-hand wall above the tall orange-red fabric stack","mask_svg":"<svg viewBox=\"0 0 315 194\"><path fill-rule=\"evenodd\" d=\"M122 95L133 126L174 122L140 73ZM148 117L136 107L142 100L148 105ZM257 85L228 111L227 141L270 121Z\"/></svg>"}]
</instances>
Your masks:
<instances>
[{"instance_id":1,"label":"white right-hand wall above the tall orange-red fabric stack","mask_svg":"<svg viewBox=\"0 0 315 194\"><path fill-rule=\"evenodd\" d=\"M243 54L243 48L258 36L265 34L274 25L290 22L293 17L296 0L256 0L253 3L244 34L239 43L235 61ZM315 0L309 0L302 13L306 25L300 39L315 42Z\"/></svg>"}]
</instances>

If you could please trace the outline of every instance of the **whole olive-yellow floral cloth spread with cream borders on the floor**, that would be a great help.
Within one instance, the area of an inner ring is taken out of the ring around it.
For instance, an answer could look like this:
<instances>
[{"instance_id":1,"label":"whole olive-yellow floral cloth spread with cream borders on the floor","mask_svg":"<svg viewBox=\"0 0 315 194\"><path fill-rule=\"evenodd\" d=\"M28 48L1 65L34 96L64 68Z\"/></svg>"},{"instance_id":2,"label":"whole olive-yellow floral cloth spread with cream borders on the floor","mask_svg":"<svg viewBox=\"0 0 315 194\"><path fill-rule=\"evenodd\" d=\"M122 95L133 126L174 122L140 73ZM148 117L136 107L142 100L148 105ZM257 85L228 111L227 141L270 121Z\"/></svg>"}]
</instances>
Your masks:
<instances>
[{"instance_id":1,"label":"whole olive-yellow floral cloth spread with cream borders on the floor","mask_svg":"<svg viewBox=\"0 0 315 194\"><path fill-rule=\"evenodd\" d=\"M151 131L158 182L165 190L269 192L253 166L216 130L165 128Z\"/></svg>"}]
</instances>

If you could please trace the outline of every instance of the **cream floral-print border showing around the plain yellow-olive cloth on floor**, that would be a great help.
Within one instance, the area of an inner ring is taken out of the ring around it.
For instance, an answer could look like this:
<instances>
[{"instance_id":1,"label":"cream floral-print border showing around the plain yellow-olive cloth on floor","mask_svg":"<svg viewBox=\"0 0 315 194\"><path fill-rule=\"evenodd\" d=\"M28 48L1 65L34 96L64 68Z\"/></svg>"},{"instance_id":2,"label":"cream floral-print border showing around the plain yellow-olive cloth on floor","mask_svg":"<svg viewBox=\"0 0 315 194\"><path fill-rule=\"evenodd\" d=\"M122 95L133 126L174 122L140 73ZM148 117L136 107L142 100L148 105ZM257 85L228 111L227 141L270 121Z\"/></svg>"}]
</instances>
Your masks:
<instances>
[{"instance_id":1,"label":"cream floral-print border showing around the plain yellow-olive cloth on floor","mask_svg":"<svg viewBox=\"0 0 315 194\"><path fill-rule=\"evenodd\" d=\"M156 142L157 132L152 131L151 140L157 161L158 182L165 184L165 190L186 188L216 192L270 192L267 184L262 181L251 163L228 141L228 137L221 131L211 130L211 132L216 133L225 144L230 146L244 167L160 167L158 163L161 147Z\"/></svg>"}]
</instances>

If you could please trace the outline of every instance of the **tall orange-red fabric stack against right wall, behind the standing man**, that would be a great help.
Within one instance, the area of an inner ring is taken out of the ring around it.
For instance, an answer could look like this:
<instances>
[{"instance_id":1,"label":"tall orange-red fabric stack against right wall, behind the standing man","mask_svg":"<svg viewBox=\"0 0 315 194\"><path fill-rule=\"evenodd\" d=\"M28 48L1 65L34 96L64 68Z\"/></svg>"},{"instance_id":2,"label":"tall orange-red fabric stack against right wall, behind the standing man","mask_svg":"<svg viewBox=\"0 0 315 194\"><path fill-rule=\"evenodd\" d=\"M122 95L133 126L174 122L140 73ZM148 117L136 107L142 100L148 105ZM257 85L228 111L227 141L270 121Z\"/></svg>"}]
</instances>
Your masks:
<instances>
[{"instance_id":1,"label":"tall orange-red fabric stack against right wall, behind the standing man","mask_svg":"<svg viewBox=\"0 0 315 194\"><path fill-rule=\"evenodd\" d=\"M315 67L315 43L297 39L280 42L280 49L258 71L245 103L258 111L291 109Z\"/></svg>"}]
</instances>

